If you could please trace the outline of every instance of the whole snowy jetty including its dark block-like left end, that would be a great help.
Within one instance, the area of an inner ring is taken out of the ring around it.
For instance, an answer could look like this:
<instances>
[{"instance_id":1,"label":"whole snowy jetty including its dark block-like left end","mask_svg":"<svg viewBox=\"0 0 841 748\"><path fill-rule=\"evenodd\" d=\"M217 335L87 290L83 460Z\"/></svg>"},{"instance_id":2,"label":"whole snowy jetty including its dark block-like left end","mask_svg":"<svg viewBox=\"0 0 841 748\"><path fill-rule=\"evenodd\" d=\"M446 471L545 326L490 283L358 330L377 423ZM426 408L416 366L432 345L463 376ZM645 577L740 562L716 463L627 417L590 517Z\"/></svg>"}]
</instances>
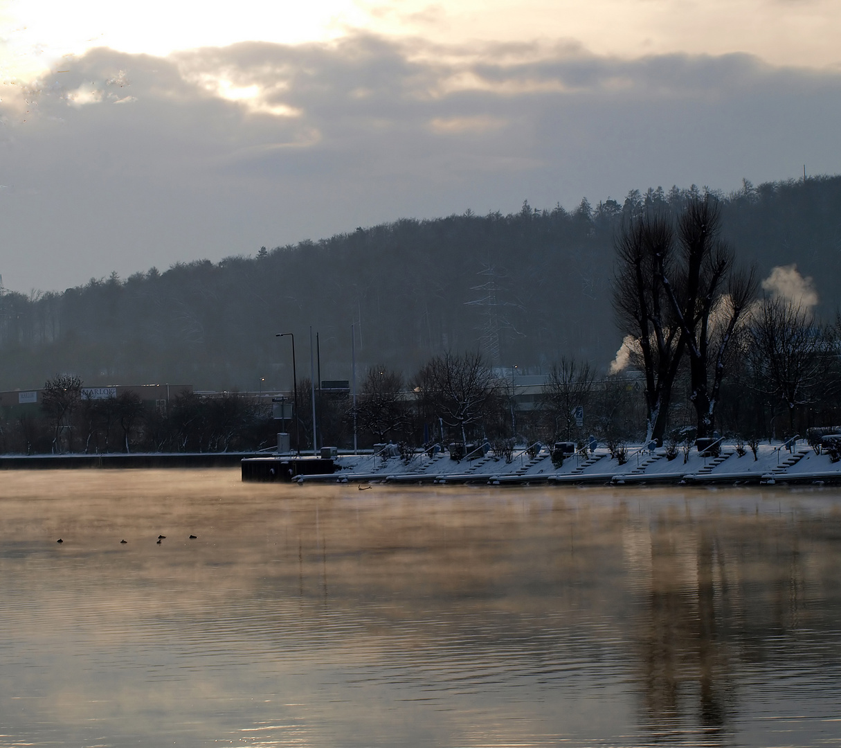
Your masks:
<instances>
[{"instance_id":1,"label":"whole snowy jetty including its dark block-like left end","mask_svg":"<svg viewBox=\"0 0 841 748\"><path fill-rule=\"evenodd\" d=\"M379 454L337 454L335 459L275 455L242 461L243 480L397 485L825 485L841 484L841 461L803 440L760 444L756 454L741 443L716 449L606 447L581 450L553 462L547 447L522 448L509 459L492 453L450 459L447 453L415 453L409 459ZM265 476L267 466L283 472ZM328 464L329 463L329 464ZM255 476L257 464L262 477ZM324 469L322 469L324 468Z\"/></svg>"}]
</instances>

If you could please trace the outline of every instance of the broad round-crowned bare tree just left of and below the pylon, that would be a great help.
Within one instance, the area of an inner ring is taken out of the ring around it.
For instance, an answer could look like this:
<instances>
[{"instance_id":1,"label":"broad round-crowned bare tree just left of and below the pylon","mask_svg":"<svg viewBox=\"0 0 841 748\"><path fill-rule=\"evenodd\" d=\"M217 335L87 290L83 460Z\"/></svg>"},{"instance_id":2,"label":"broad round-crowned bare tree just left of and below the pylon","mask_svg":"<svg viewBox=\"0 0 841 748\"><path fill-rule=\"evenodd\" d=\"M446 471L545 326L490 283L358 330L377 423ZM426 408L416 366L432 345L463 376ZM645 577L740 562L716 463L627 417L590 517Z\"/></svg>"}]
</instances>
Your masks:
<instances>
[{"instance_id":1,"label":"broad round-crowned bare tree just left of and below the pylon","mask_svg":"<svg viewBox=\"0 0 841 748\"><path fill-rule=\"evenodd\" d=\"M494 374L480 353L444 353L426 363L416 376L421 404L467 442L468 427L484 421L496 396Z\"/></svg>"}]
</instances>

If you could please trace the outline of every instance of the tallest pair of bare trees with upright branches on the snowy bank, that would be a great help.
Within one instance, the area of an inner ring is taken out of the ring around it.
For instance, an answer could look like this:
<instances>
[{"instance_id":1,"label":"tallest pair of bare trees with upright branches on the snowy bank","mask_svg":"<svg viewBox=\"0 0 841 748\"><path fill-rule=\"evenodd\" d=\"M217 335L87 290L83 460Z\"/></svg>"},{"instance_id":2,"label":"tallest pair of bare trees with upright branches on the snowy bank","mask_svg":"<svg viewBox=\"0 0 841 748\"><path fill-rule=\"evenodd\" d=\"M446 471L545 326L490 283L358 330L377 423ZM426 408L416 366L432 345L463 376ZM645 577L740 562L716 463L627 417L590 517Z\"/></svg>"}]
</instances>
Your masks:
<instances>
[{"instance_id":1,"label":"tallest pair of bare trees with upright branches on the snowy bank","mask_svg":"<svg viewBox=\"0 0 841 748\"><path fill-rule=\"evenodd\" d=\"M663 438L684 353L698 436L712 432L727 352L756 294L754 271L735 268L720 226L717 200L706 194L686 204L676 234L667 216L646 214L616 243L614 308L645 374L647 438Z\"/></svg>"}]
</instances>

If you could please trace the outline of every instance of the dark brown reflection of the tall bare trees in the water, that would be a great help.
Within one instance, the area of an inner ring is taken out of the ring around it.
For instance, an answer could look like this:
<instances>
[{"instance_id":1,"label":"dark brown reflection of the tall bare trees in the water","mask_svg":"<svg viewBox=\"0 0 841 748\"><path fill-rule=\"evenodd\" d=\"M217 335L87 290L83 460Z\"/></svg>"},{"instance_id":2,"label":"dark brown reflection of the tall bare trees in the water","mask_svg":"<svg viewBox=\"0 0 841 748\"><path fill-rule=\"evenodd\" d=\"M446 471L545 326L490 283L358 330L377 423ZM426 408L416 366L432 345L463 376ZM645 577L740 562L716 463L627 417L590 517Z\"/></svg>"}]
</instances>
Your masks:
<instances>
[{"instance_id":1,"label":"dark brown reflection of the tall bare trees in the water","mask_svg":"<svg viewBox=\"0 0 841 748\"><path fill-rule=\"evenodd\" d=\"M651 571L636 622L643 723L659 740L697 725L706 740L731 734L744 666L774 649L780 668L796 666L800 647L775 637L807 625L801 535L812 525L813 556L833 530L817 519L784 516L693 518L661 513L650 528ZM822 537L821 537L822 536ZM818 576L828 568L815 568ZM829 625L832 603L814 606L810 627ZM788 661L785 661L788 660Z\"/></svg>"}]
</instances>

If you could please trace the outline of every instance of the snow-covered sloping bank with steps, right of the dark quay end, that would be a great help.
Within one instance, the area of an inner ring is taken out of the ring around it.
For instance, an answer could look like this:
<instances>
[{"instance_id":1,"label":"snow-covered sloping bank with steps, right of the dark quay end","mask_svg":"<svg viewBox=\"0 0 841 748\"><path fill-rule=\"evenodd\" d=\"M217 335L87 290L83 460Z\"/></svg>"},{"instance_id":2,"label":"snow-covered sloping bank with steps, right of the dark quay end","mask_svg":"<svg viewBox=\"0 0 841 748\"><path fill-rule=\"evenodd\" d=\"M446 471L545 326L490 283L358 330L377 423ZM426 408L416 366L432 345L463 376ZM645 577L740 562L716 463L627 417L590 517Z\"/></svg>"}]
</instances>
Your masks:
<instances>
[{"instance_id":1,"label":"snow-covered sloping bank with steps, right of the dark quay end","mask_svg":"<svg viewBox=\"0 0 841 748\"><path fill-rule=\"evenodd\" d=\"M336 474L299 476L298 480L489 485L841 483L841 462L833 463L828 454L816 454L806 443L796 443L791 450L780 443L761 444L755 458L749 449L739 456L733 444L725 444L717 457L703 456L692 448L689 454L681 451L673 459L664 448L653 452L629 448L622 464L608 449L596 448L587 456L569 456L556 468L543 448L533 458L525 450L516 452L510 463L491 455L457 461L447 454L415 454L408 462L371 454L341 455L336 459Z\"/></svg>"}]
</instances>

